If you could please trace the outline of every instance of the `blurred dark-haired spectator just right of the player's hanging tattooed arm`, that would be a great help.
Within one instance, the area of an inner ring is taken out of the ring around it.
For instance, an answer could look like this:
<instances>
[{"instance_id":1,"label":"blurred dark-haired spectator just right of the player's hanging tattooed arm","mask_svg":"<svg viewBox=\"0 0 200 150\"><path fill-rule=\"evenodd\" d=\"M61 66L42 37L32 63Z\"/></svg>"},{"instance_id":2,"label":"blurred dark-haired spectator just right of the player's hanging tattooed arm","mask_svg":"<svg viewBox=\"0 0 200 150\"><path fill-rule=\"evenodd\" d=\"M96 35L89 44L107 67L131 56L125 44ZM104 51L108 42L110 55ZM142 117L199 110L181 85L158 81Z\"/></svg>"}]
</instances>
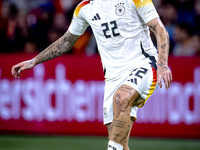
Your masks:
<instances>
[{"instance_id":1,"label":"blurred dark-haired spectator just right of the player's hanging tattooed arm","mask_svg":"<svg viewBox=\"0 0 200 150\"><path fill-rule=\"evenodd\" d=\"M174 56L194 56L196 50L193 46L193 30L191 25L187 23L181 23L176 26L174 39L176 40L176 45L174 46L173 55Z\"/></svg>"}]
</instances>

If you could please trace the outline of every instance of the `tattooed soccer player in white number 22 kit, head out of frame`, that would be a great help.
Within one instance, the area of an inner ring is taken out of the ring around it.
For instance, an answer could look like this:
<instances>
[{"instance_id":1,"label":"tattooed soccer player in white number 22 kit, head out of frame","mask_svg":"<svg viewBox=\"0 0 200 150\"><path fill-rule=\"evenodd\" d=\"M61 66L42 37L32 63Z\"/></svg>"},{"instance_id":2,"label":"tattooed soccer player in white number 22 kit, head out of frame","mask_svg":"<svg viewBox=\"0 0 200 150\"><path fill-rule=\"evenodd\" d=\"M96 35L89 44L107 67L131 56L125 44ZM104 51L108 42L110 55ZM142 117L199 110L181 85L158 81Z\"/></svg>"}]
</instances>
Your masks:
<instances>
[{"instance_id":1,"label":"tattooed soccer player in white number 22 kit, head out of frame","mask_svg":"<svg viewBox=\"0 0 200 150\"><path fill-rule=\"evenodd\" d=\"M164 80L172 82L168 68L169 37L152 0L85 0L74 12L68 31L35 58L12 68L23 70L60 56L72 48L91 26L105 73L104 124L108 128L108 150L129 150L128 141L138 107ZM157 48L150 39L155 34Z\"/></svg>"}]
</instances>

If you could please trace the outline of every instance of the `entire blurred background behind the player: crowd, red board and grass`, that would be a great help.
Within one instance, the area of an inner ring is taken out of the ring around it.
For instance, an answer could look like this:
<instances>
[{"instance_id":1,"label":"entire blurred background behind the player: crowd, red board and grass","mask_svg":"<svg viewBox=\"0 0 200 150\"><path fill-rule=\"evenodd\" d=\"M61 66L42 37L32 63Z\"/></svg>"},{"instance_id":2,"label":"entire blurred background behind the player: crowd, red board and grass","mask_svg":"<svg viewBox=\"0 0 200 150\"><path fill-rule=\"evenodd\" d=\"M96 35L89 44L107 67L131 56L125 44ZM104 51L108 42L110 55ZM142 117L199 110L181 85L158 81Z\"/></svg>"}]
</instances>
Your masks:
<instances>
[{"instance_id":1,"label":"entire blurred background behind the player: crowd, red board and grass","mask_svg":"<svg viewBox=\"0 0 200 150\"><path fill-rule=\"evenodd\" d=\"M79 2L0 1L0 150L106 149L104 78L90 28L67 54L21 79L10 73L65 33ZM153 2L170 35L173 84L139 110L130 149L200 150L200 0Z\"/></svg>"}]
</instances>

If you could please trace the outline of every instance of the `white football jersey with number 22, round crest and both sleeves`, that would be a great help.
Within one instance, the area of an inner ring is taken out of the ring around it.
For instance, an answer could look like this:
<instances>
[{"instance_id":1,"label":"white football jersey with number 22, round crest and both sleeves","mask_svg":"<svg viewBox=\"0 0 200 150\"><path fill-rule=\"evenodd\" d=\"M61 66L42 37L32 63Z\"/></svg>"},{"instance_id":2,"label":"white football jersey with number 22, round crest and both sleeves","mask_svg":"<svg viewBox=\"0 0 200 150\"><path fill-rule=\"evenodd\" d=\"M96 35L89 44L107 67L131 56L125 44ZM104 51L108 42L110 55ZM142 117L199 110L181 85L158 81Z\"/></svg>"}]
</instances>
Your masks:
<instances>
[{"instance_id":1,"label":"white football jersey with number 22, round crest and both sleeves","mask_svg":"<svg viewBox=\"0 0 200 150\"><path fill-rule=\"evenodd\" d=\"M143 50L157 59L146 25L157 17L152 0L85 0L74 11L69 31L82 35L91 26L105 77L113 79L138 63L146 63Z\"/></svg>"}]
</instances>

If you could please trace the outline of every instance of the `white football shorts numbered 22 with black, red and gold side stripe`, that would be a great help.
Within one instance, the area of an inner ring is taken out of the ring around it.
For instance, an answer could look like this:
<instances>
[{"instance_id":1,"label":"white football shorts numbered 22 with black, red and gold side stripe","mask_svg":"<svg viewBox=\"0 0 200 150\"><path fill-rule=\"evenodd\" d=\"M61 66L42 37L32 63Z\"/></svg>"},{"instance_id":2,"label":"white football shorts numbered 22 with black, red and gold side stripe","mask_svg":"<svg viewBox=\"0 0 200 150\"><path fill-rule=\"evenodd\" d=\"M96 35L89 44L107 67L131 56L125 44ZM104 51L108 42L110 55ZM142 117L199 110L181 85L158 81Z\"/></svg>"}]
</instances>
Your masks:
<instances>
[{"instance_id":1,"label":"white football shorts numbered 22 with black, red and gold side stripe","mask_svg":"<svg viewBox=\"0 0 200 150\"><path fill-rule=\"evenodd\" d=\"M113 95L121 85L129 85L138 91L144 103L139 106L132 106L130 116L137 118L138 107L144 106L148 98L157 89L157 66L155 62L138 65L131 71L124 72L118 79L105 81L105 93L103 104L104 124L109 124L113 120Z\"/></svg>"}]
</instances>

